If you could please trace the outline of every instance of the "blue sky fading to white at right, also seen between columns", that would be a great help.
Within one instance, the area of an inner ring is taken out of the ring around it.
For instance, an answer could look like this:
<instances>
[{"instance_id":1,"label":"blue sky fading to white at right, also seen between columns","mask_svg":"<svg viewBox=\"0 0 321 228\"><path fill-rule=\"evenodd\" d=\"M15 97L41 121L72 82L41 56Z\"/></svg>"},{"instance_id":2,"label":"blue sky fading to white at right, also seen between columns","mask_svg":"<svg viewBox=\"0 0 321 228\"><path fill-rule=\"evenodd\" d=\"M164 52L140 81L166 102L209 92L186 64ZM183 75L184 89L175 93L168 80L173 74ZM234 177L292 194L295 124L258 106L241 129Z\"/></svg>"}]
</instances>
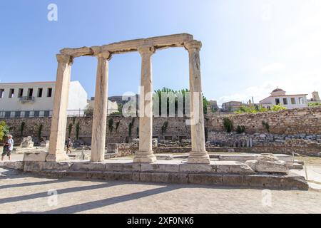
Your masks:
<instances>
[{"instance_id":1,"label":"blue sky fading to white at right, also seen between columns","mask_svg":"<svg viewBox=\"0 0 321 228\"><path fill-rule=\"evenodd\" d=\"M49 4L58 21L49 21ZM56 53L133 38L191 33L203 42L203 93L209 99L255 102L278 86L321 92L319 0L13 0L0 1L1 82L54 81ZM138 53L114 56L109 95L138 92ZM72 80L94 95L96 58L76 58ZM153 56L153 88L188 88L184 48Z\"/></svg>"}]
</instances>

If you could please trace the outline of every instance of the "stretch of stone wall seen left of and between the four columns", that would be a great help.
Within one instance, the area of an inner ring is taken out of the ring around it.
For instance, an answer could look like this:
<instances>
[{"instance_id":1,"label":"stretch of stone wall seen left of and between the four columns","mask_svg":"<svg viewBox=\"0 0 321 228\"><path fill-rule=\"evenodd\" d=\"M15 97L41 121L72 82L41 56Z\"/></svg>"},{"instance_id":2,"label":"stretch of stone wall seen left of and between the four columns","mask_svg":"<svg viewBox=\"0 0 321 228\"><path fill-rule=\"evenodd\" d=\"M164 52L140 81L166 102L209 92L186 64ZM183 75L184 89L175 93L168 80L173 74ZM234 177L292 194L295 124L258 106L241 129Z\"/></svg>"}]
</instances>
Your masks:
<instances>
[{"instance_id":1,"label":"stretch of stone wall seen left of and between the four columns","mask_svg":"<svg viewBox=\"0 0 321 228\"><path fill-rule=\"evenodd\" d=\"M113 120L113 129L109 128L109 121ZM51 118L6 118L4 120L11 128L11 134L14 135L16 142L21 140L21 123L25 123L23 136L32 136L36 141L39 135L39 127L43 125L41 130L41 137L48 138L50 135ZM153 119L153 137L160 140L180 140L190 138L190 126L185 125L186 118L154 118ZM79 139L91 143L93 118L91 117L77 117L68 118L66 137L68 137L68 126L71 124L71 138L76 138L76 125L79 123ZM119 122L118 128L116 125ZM162 127L165 122L168 122L168 127L165 132L162 132ZM130 128L129 124L133 123ZM138 125L139 118L125 118L122 116L109 116L107 118L106 127L106 142L110 143L123 143L131 142L133 138L138 138Z\"/></svg>"}]
</instances>

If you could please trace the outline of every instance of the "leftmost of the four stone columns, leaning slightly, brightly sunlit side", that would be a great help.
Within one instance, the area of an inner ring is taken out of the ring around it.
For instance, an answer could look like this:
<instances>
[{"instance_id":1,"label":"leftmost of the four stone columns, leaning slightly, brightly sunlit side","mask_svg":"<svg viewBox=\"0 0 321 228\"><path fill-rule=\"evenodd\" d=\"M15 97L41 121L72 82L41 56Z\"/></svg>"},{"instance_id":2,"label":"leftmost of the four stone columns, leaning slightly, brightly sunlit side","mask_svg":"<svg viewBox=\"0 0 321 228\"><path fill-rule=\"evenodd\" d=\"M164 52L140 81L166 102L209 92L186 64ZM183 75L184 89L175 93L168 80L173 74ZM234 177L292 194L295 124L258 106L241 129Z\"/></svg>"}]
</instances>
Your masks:
<instances>
[{"instance_id":1,"label":"leftmost of the four stone columns, leaning slightly, brightly sunlit side","mask_svg":"<svg viewBox=\"0 0 321 228\"><path fill-rule=\"evenodd\" d=\"M66 141L68 94L71 77L72 56L58 54L58 69L54 95L54 110L51 118L49 155L47 162L68 160L64 150Z\"/></svg>"}]
</instances>

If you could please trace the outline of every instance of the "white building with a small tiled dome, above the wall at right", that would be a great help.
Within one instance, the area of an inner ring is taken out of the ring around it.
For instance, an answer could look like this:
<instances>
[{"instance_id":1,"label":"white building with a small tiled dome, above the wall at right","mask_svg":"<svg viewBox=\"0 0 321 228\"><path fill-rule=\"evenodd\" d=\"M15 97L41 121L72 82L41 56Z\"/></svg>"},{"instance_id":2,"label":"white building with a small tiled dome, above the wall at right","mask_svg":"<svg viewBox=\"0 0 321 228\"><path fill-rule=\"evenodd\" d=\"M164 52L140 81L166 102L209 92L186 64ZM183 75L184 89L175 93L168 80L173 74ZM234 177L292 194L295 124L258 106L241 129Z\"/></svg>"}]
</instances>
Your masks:
<instances>
[{"instance_id":1,"label":"white building with a small tiled dome, above the wall at right","mask_svg":"<svg viewBox=\"0 0 321 228\"><path fill-rule=\"evenodd\" d=\"M286 95L285 93L285 90L276 88L269 97L260 101L260 105L267 109L279 104L287 109L307 107L307 94Z\"/></svg>"}]
</instances>

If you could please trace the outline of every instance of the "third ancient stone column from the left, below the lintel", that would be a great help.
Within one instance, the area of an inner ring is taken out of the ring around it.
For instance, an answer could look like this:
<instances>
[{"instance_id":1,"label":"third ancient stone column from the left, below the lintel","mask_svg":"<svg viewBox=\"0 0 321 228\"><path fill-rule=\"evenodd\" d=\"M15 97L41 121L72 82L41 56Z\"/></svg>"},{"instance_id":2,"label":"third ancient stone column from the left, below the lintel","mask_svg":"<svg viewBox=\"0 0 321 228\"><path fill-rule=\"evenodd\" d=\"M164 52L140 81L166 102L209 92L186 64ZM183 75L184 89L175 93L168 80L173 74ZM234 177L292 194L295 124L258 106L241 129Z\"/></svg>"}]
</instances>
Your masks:
<instances>
[{"instance_id":1,"label":"third ancient stone column from the left, below the lintel","mask_svg":"<svg viewBox=\"0 0 321 228\"><path fill-rule=\"evenodd\" d=\"M153 86L151 56L155 49L151 46L138 48L141 54L141 97L139 101L139 150L133 162L151 163L156 161L153 154Z\"/></svg>"}]
</instances>

